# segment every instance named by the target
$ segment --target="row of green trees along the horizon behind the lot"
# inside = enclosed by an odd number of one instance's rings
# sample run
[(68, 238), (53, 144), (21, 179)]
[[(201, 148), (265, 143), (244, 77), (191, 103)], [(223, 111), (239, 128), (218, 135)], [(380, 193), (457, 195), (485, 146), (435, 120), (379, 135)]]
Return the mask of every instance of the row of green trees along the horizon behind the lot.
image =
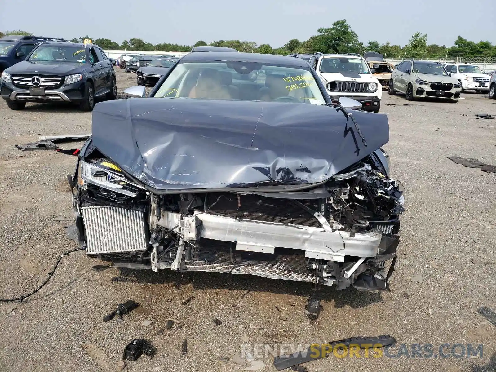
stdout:
[[(3, 35), (32, 35), (22, 30), (0, 32)], [(218, 40), (206, 43), (203, 40), (197, 41), (194, 45), (179, 45), (173, 43), (152, 44), (142, 39), (132, 38), (124, 40), (121, 44), (105, 38), (93, 39), (91, 36), (73, 38), (71, 42), (83, 42), (84, 39), (91, 39), (103, 49), (127, 50), (127, 51), (163, 51), (163, 52), (189, 52), (193, 46), (219, 46), (237, 49), (240, 52), (255, 52), (265, 54), (288, 55), (291, 53), (313, 54), (320, 53), (364, 53), (368, 51), (378, 52), (385, 58), (417, 58), (417, 59), (439, 59), (456, 57), (496, 57), (496, 45), (489, 41), (474, 42), (458, 36), (454, 45), (428, 44), (427, 34), (416, 32), (412, 35), (408, 44), (403, 47), (392, 45), (390, 42), (380, 44), (375, 40), (370, 40), (367, 44), (359, 41), (358, 35), (352, 30), (346, 19), (340, 19), (328, 28), (317, 29), (317, 34), (308, 40), (300, 41), (291, 39), (283, 46), (273, 48), (269, 44), (258, 45), (253, 41), (240, 40)]]

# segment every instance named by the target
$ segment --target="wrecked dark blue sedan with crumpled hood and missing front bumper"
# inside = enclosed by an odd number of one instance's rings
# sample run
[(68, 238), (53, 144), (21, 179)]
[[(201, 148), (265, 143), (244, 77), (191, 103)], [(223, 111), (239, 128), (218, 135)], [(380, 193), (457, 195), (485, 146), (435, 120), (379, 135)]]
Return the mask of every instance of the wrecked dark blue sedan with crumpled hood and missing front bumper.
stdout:
[(325, 92), (301, 59), (206, 52), (98, 103), (69, 176), (87, 254), (387, 290), (404, 210), (388, 120)]

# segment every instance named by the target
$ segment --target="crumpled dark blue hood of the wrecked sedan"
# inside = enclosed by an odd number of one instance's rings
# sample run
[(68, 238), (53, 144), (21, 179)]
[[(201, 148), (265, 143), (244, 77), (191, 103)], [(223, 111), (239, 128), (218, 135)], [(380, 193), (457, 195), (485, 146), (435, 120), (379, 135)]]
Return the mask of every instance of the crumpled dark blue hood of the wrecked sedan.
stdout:
[(385, 115), (254, 101), (130, 98), (98, 103), (94, 146), (154, 189), (315, 184), (389, 141)]

